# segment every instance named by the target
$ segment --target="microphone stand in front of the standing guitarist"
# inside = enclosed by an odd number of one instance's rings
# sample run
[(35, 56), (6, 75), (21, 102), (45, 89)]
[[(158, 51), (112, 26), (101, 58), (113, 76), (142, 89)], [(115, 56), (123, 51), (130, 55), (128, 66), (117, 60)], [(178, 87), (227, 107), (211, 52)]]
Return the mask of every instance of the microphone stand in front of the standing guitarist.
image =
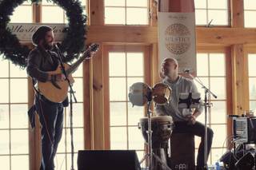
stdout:
[(71, 170), (74, 170), (74, 132), (73, 132), (73, 100), (72, 97), (74, 97), (74, 102), (77, 103), (77, 98), (74, 96), (74, 90), (72, 88), (72, 85), (70, 83), (70, 79), (68, 78), (68, 75), (66, 73), (66, 69), (64, 67), (64, 63), (62, 61), (62, 53), (60, 49), (58, 49), (58, 45), (54, 45), (55, 49), (57, 49), (58, 53), (58, 59), (60, 61), (60, 65), (62, 68), (62, 73), (64, 74), (66, 81), (68, 82), (70, 86), (70, 137), (71, 137)]

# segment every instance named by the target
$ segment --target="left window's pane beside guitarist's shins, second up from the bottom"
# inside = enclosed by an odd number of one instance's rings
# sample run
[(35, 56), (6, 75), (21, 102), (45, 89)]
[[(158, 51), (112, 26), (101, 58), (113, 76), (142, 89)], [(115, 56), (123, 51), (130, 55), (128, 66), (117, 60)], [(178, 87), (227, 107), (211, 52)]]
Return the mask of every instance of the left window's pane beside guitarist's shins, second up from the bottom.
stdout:
[(11, 154), (29, 152), (28, 130), (10, 130)]

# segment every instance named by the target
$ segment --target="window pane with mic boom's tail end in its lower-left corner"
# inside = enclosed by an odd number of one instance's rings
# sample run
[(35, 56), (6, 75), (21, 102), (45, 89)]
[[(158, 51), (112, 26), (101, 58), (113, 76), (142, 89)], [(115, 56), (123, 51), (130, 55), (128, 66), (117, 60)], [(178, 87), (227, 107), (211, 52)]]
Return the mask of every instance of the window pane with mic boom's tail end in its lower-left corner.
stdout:
[(210, 90), (218, 100), (226, 99), (226, 78), (210, 78)]

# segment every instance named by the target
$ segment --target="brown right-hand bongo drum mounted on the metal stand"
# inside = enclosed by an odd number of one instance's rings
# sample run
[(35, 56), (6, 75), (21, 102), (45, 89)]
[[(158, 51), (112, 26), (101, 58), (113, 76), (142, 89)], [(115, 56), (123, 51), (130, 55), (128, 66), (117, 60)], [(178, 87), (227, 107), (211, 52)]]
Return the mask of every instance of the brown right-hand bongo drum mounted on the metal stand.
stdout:
[(168, 85), (158, 83), (152, 89), (152, 99), (158, 105), (164, 105), (170, 100), (171, 89)]

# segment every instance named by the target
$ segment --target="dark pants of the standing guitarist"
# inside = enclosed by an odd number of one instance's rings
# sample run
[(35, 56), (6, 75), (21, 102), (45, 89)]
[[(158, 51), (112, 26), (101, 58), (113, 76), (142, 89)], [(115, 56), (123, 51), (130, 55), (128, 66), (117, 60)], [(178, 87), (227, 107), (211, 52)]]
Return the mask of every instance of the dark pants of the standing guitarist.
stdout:
[(40, 170), (54, 170), (54, 156), (62, 138), (63, 105), (36, 97), (36, 110), (42, 125), (42, 164)]

